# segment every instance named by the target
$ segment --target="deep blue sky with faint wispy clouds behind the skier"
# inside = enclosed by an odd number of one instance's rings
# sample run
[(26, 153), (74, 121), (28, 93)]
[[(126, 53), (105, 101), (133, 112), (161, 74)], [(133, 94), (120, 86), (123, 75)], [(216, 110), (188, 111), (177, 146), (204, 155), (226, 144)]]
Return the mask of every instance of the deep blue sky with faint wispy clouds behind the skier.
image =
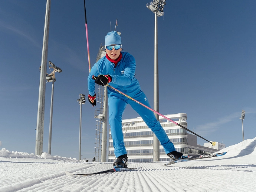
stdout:
[[(153, 106), (154, 14), (150, 1), (86, 1), (91, 65), (118, 18), (124, 51)], [(46, 0), (0, 1), (0, 148), (35, 153)], [(256, 1), (167, 1), (158, 17), (159, 112), (187, 113), (188, 128), (226, 146), (256, 137)], [(79, 93), (89, 74), (83, 0), (52, 1), (48, 59), (56, 74), (52, 155), (78, 158)], [(110, 22), (112, 28), (110, 27)], [(49, 69), (47, 72), (50, 73)], [(51, 83), (46, 83), (43, 151)], [(95, 107), (82, 106), (82, 158), (94, 157)], [(130, 106), (124, 119), (138, 117)], [(204, 140), (198, 138), (198, 144)]]

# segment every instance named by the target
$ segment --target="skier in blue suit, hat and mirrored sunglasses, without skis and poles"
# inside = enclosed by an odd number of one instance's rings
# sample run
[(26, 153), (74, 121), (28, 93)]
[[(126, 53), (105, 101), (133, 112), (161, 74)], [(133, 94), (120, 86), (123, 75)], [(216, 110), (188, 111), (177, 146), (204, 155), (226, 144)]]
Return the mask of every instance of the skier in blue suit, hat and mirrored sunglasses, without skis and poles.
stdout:
[[(122, 91), (138, 102), (150, 107), (146, 95), (142, 92), (135, 75), (135, 59), (128, 52), (122, 51), (121, 36), (116, 31), (108, 32), (105, 37), (106, 56), (96, 62), (88, 76), (88, 100), (92, 106), (96, 105), (95, 83), (101, 86), (107, 84)], [(122, 52), (121, 52), (122, 51)], [(173, 160), (179, 159), (183, 154), (175, 151), (160, 122), (154, 113), (140, 104), (128, 99), (124, 95), (108, 89), (109, 124), (114, 144), (114, 153), (117, 160), (114, 167), (127, 167), (128, 157), (124, 145), (122, 132), (122, 114), (127, 104), (142, 117), (147, 126), (154, 132), (164, 148), (165, 153)]]

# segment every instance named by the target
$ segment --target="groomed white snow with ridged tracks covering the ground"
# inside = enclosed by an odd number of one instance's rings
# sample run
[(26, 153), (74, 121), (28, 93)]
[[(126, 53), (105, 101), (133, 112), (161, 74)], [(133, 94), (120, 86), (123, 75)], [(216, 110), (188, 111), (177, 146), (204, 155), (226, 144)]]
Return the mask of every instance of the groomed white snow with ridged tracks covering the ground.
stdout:
[(0, 150), (1, 192), (241, 192), (256, 191), (256, 137), (224, 148), (222, 157), (180, 162), (129, 163), (127, 172), (86, 174), (112, 168), (112, 163), (41, 156)]

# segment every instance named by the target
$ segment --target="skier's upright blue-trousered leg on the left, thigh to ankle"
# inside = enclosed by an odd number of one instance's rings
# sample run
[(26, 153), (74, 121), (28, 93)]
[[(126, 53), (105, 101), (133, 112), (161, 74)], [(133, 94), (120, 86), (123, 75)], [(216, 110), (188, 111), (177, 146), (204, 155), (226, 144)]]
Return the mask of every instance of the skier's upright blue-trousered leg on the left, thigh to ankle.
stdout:
[(127, 103), (115, 96), (108, 97), (109, 124), (116, 157), (127, 154), (122, 131), (122, 114)]

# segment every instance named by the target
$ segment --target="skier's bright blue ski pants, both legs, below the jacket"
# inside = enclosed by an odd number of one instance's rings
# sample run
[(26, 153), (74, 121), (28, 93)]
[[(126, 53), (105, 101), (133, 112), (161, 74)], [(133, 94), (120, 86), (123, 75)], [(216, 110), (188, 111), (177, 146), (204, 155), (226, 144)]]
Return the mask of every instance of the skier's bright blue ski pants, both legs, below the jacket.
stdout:
[[(135, 95), (129, 96), (150, 107), (147, 97), (142, 90)], [(147, 126), (157, 136), (166, 154), (175, 151), (173, 143), (171, 143), (160, 122), (157, 121), (155, 114), (151, 110), (119, 93), (112, 92), (111, 95), (108, 95), (109, 124), (116, 157), (127, 154), (122, 132), (122, 114), (124, 113), (124, 109), (127, 104), (131, 105), (131, 107), (142, 117)]]

